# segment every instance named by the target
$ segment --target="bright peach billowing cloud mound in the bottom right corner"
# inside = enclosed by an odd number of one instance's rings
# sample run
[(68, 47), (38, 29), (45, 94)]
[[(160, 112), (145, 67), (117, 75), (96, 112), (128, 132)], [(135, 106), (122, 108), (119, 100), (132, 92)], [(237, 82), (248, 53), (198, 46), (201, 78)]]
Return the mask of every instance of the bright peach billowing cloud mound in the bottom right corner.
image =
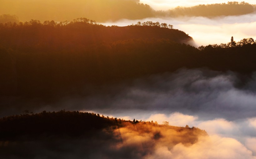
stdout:
[(168, 149), (159, 145), (152, 155), (145, 158), (255, 159), (256, 157), (237, 140), (213, 135), (201, 137), (197, 143), (191, 146), (179, 143), (173, 149)]

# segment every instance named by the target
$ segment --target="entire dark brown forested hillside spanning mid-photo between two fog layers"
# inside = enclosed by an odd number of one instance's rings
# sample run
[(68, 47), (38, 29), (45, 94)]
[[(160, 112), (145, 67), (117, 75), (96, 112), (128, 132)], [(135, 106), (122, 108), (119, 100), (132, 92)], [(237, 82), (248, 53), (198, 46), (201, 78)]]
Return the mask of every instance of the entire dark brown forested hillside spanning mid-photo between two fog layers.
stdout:
[(183, 43), (192, 40), (184, 32), (167, 24), (146, 23), (106, 27), (78, 18), (58, 24), (38, 20), (2, 24), (0, 93), (53, 96), (79, 92), (85, 84), (107, 84), (182, 67), (246, 74), (256, 70), (252, 38), (198, 49)]

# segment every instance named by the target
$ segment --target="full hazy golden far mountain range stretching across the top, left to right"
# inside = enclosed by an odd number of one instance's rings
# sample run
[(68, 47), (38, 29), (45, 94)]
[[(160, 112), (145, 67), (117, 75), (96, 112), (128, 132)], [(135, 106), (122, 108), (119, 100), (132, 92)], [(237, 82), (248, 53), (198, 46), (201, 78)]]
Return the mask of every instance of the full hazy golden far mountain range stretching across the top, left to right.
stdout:
[(246, 2), (176, 7), (169, 11), (155, 11), (149, 5), (139, 3), (137, 0), (76, 0), (72, 2), (70, 0), (61, 2), (58, 0), (1, 0), (0, 3), (0, 15), (17, 15), (23, 22), (30, 19), (63, 21), (81, 16), (99, 22), (161, 16), (216, 17), (243, 15), (255, 11), (255, 5)]

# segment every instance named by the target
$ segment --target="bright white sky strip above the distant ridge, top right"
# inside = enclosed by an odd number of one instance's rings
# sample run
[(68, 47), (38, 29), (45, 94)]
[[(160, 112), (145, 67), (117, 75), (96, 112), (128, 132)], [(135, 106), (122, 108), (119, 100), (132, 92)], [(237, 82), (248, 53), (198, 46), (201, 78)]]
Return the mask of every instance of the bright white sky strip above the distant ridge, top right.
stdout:
[[(191, 7), (199, 4), (213, 4), (213, 3), (227, 3), (226, 0), (140, 0), (140, 3), (148, 4), (155, 10), (168, 10), (175, 8), (177, 6), (180, 7)], [(230, 1), (233, 2), (233, 1)], [(236, 2), (243, 2), (240, 0), (236, 0)], [(250, 4), (255, 4), (255, 0), (247, 0), (244, 1)]]

